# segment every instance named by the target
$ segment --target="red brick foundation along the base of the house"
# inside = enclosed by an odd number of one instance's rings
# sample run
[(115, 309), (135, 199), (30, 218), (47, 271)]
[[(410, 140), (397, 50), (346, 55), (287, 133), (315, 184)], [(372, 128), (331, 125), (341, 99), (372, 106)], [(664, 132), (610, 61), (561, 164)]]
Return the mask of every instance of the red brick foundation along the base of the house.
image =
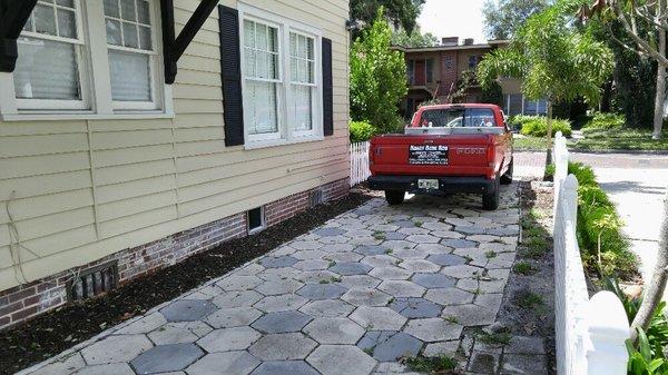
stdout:
[[(312, 191), (322, 191), (322, 201), (345, 196), (348, 179), (337, 180), (313, 190), (297, 193), (265, 206), (265, 223), (276, 225), (310, 207)], [(117, 261), (118, 282), (127, 283), (158, 269), (175, 265), (187, 257), (212, 249), (216, 245), (247, 235), (246, 213), (184, 230), (163, 239), (125, 249), (91, 264), (0, 292), (0, 329), (28, 320), (67, 304), (67, 283), (78, 270)]]

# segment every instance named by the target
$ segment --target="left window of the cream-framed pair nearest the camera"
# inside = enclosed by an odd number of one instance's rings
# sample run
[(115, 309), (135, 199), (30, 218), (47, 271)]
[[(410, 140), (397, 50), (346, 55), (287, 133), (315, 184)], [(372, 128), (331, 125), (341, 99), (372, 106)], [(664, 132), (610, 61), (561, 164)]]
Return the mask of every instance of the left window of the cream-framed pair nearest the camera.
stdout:
[(18, 40), (17, 105), (26, 109), (85, 109), (85, 42), (73, 0), (39, 1)]

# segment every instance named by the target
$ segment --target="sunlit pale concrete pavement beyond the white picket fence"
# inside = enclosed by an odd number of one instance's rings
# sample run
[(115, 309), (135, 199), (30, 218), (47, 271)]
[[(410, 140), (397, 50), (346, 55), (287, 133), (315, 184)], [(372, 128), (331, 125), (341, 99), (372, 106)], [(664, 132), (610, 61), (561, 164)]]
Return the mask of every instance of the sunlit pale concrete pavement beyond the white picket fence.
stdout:
[[(640, 272), (649, 279), (658, 249), (661, 203), (668, 188), (668, 156), (573, 152), (571, 160), (593, 167), (625, 221), (625, 234), (640, 257)], [(538, 177), (544, 168), (544, 154), (519, 152), (515, 162), (519, 176)]]

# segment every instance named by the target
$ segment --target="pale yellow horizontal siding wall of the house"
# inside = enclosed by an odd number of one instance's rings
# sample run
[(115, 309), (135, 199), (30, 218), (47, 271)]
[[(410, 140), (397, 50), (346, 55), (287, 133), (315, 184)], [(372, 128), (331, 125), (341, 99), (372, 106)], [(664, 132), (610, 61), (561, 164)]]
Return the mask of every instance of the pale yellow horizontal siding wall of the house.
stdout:
[[(177, 32), (198, 3), (175, 1)], [(178, 63), (175, 119), (0, 122), (0, 290), (347, 177), (347, 0), (247, 3), (332, 39), (334, 136), (225, 147), (216, 10)]]

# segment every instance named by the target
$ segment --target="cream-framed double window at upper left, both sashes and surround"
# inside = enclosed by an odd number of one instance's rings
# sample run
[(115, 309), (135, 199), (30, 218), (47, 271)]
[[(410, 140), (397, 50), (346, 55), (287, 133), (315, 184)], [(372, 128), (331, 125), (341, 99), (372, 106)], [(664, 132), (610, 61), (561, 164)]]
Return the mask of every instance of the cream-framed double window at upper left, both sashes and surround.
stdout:
[(19, 38), (14, 72), (0, 73), (2, 119), (170, 116), (157, 7), (157, 0), (39, 0)]

